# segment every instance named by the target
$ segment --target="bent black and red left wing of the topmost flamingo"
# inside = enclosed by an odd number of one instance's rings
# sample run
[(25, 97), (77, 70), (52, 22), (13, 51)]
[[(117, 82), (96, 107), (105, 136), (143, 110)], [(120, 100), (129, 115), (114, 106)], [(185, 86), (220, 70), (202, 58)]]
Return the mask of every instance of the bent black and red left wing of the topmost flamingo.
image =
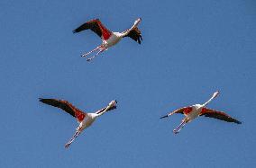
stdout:
[(99, 19), (94, 19), (80, 25), (77, 29), (73, 31), (73, 33), (85, 31), (88, 29), (94, 31), (100, 38), (108, 35), (110, 36), (111, 34), (111, 31), (107, 30), (105, 26), (99, 21)]

